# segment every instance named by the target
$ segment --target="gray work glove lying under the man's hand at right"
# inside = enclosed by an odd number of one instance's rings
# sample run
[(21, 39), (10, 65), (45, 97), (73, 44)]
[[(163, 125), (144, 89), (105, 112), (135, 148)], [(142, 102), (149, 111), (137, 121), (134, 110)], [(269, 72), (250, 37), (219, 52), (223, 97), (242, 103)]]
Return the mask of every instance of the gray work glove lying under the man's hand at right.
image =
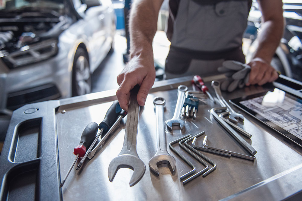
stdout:
[(226, 79), (221, 83), (222, 91), (232, 92), (237, 87), (242, 88), (249, 81), (249, 72), (251, 67), (239, 61), (224, 61), (221, 67), (218, 67), (220, 73), (224, 73)]

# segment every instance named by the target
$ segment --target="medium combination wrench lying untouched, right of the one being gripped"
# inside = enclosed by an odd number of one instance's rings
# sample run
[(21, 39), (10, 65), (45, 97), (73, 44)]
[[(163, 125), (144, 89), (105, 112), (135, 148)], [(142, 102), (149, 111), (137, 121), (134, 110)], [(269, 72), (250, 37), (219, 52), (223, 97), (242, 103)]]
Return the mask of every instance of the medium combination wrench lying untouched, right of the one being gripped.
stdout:
[(156, 112), (156, 137), (157, 149), (155, 155), (149, 160), (150, 170), (159, 175), (158, 165), (169, 165), (172, 174), (175, 172), (176, 160), (167, 151), (166, 133), (165, 133), (165, 118), (164, 118), (164, 105), (165, 99), (162, 97), (155, 97), (153, 99)]

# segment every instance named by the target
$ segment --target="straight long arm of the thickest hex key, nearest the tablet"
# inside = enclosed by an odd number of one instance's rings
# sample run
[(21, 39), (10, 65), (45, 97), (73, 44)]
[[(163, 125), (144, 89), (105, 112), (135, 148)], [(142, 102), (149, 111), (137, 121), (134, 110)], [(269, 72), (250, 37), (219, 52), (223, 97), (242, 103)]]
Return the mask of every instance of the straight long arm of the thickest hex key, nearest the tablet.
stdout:
[(223, 119), (221, 119), (215, 112), (215, 108), (212, 108), (210, 110), (210, 113), (213, 115), (213, 117), (218, 121), (218, 123), (223, 126), (250, 154), (255, 155), (257, 151), (249, 144), (247, 143), (236, 131)]

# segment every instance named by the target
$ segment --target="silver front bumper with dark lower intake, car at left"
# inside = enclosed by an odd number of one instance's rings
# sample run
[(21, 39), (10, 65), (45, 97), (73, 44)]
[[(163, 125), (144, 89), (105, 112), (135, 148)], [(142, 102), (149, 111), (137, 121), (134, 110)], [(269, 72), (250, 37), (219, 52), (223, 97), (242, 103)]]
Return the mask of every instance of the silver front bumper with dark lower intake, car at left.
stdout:
[(31, 102), (71, 96), (67, 52), (38, 63), (8, 69), (0, 63), (0, 111), (4, 114)]

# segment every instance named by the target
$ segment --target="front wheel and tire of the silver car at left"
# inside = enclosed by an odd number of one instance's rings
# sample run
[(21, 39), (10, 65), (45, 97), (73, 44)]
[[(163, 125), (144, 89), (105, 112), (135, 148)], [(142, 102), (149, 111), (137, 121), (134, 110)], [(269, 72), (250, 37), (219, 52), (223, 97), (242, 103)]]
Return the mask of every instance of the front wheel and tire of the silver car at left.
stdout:
[(91, 85), (88, 54), (83, 48), (78, 48), (72, 66), (72, 96), (91, 93)]

